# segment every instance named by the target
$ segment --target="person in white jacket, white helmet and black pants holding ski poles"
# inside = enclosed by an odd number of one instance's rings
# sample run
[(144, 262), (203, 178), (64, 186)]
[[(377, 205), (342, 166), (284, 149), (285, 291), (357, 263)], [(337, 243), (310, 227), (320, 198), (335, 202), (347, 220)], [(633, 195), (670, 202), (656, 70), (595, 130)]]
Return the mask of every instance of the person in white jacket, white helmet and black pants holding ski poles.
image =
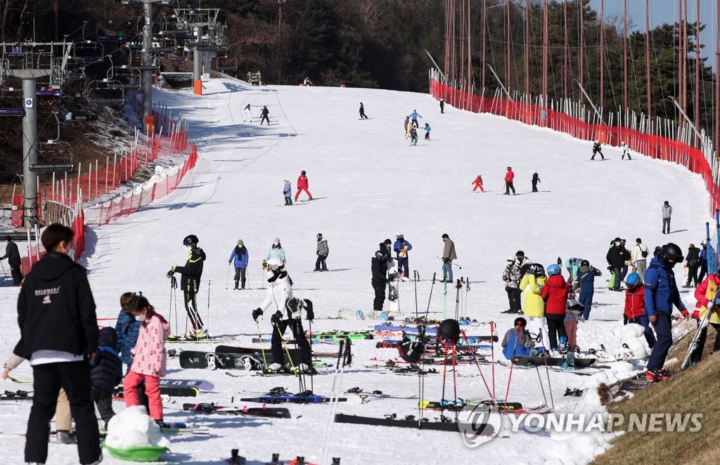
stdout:
[(284, 262), (279, 258), (270, 258), (267, 261), (268, 290), (260, 307), (253, 310), (253, 320), (263, 315), (265, 310), (274, 309), (270, 317), (272, 323), (271, 352), (272, 363), (267, 366), (270, 371), (279, 371), (284, 366), (282, 340), (285, 330), (290, 327), (292, 336), (300, 349), (300, 364), (297, 369), (309, 371), (312, 366), (310, 343), (307, 342), (305, 331), (302, 329), (300, 316), (305, 310), (307, 320), (312, 321), (312, 302), (292, 297), (292, 279), (284, 269)]

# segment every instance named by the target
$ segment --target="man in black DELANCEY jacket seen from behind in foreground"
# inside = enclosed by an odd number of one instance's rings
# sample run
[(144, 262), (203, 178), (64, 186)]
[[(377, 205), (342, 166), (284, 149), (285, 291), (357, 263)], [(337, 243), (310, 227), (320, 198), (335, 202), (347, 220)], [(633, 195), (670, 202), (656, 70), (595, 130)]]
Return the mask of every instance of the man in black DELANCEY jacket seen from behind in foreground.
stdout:
[(58, 223), (45, 228), (40, 239), (48, 253), (32, 266), (17, 299), (20, 340), (14, 353), (30, 360), (34, 379), (26, 462), (48, 459), (49, 425), (60, 387), (70, 399), (80, 463), (102, 460), (88, 363), (98, 346), (97, 315), (86, 270), (68, 256), (74, 236)]

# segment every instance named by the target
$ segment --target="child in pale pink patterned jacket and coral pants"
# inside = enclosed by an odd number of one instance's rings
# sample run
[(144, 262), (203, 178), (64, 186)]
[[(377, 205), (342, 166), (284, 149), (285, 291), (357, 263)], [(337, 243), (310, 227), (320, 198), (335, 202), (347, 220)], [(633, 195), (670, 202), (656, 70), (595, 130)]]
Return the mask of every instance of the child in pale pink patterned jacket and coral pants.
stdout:
[(150, 405), (150, 417), (159, 425), (163, 424), (163, 402), (160, 398), (160, 379), (165, 376), (165, 340), (170, 334), (170, 325), (148, 299), (135, 295), (130, 302), (130, 314), (140, 321), (138, 343), (130, 351), (132, 366), (122, 382), (125, 405), (140, 405), (138, 384), (145, 382), (145, 394)]

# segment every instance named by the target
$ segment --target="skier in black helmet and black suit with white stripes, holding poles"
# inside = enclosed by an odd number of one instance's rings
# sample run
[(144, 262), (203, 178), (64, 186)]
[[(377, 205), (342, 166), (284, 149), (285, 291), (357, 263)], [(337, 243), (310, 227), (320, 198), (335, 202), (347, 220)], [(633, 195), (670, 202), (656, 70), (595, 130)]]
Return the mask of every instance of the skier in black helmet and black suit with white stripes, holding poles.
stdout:
[(182, 243), (188, 253), (185, 266), (173, 266), (168, 272), (168, 278), (174, 273), (181, 274), (180, 286), (185, 299), (185, 311), (190, 318), (193, 333), (189, 333), (189, 338), (207, 337), (207, 331), (202, 329), (202, 318), (200, 310), (197, 307), (197, 292), (200, 290), (200, 277), (202, 276), (202, 262), (205, 261), (205, 253), (202, 248), (197, 246), (199, 239), (197, 235), (191, 234), (183, 239)]

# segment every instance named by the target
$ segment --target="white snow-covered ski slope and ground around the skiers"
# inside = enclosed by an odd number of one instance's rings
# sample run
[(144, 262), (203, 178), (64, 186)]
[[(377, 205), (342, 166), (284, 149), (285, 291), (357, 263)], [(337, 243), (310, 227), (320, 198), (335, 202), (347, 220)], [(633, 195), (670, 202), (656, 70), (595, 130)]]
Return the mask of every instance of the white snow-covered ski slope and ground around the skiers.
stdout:
[[(589, 161), (591, 144), (557, 132), (526, 127), (500, 117), (472, 114), (438, 104), (425, 94), (367, 89), (322, 87), (253, 87), (239, 81), (215, 79), (204, 83), (205, 95), (189, 91), (156, 91), (168, 107), (189, 119), (191, 140), (197, 143), (199, 163), (179, 188), (166, 199), (110, 225), (88, 229), (83, 258), (89, 268), (99, 317), (116, 317), (122, 292), (143, 291), (166, 317), (170, 316), (170, 288), (166, 272), (184, 263), (181, 240), (196, 234), (207, 253), (199, 302), (210, 332), (236, 338), (235, 345), (251, 346), (256, 326), (251, 310), (264, 297), (260, 288), (261, 260), (278, 237), (287, 253), (287, 269), (297, 297), (312, 299), (318, 318), (312, 326), (323, 329), (367, 329), (372, 321), (330, 320), (341, 308), (372, 309), (370, 259), (378, 243), (404, 233), (413, 244), (410, 268), (417, 270), (418, 307), (428, 306), (433, 273), (441, 276), (441, 235), (454, 240), (458, 259), (456, 276), (467, 276), (468, 315), (479, 322), (494, 321), (502, 338), (514, 315), (508, 308), (500, 275), (505, 259), (522, 249), (532, 261), (545, 266), (565, 258), (588, 258), (605, 270), (608, 243), (616, 236), (629, 245), (641, 237), (650, 250), (666, 240), (686, 249), (698, 245), (704, 235), (707, 194), (699, 176), (683, 168), (635, 155), (621, 161), (619, 150), (606, 148), (606, 161)], [(357, 109), (365, 105), (370, 119), (360, 121)], [(257, 115), (267, 105), (273, 125), (243, 123), (242, 109), (253, 106)], [(410, 147), (403, 137), (405, 115), (417, 109), (420, 124), (432, 127), (430, 142)], [(516, 173), (518, 195), (504, 196), (506, 167)], [(301, 170), (307, 171), (313, 202), (284, 207), (283, 179), (295, 187)], [(538, 171), (540, 192), (531, 194), (530, 180)], [(472, 192), (477, 174), (485, 181), (485, 193)], [(301, 198), (305, 194), (302, 194)], [(661, 233), (660, 207), (672, 204), (673, 233)], [(330, 245), (331, 272), (312, 273), (315, 235), (323, 233)], [(228, 284), (228, 258), (238, 239), (247, 246), (251, 266), (248, 287), (239, 292)], [(678, 270), (676, 270), (678, 271)], [(607, 272), (604, 273), (605, 275)], [(678, 271), (680, 275), (680, 271)], [(567, 274), (566, 274), (567, 276)], [(617, 348), (622, 326), (624, 294), (604, 290), (606, 276), (598, 279), (591, 320), (580, 325), (581, 348)], [(210, 296), (208, 295), (210, 294)], [(414, 283), (400, 288), (402, 310), (415, 312)], [(178, 294), (181, 306), (181, 294)], [(208, 300), (208, 297), (210, 299)], [(690, 294), (683, 294), (690, 304)], [(4, 356), (18, 337), (14, 324), (17, 291), (0, 289), (7, 324), (0, 330)], [(208, 305), (209, 302), (209, 305)], [(449, 291), (449, 315), (454, 313), (455, 293)], [(387, 305), (387, 302), (386, 302)], [(209, 307), (209, 309), (208, 309)], [(184, 311), (180, 311), (184, 327)], [(444, 293), (435, 286), (430, 316), (443, 317)], [(175, 312), (171, 322), (175, 326)], [(107, 323), (107, 322), (106, 322)], [(113, 324), (112, 320), (109, 320)], [(269, 334), (269, 315), (260, 322)], [(307, 328), (307, 325), (306, 325)], [(467, 328), (468, 335), (489, 333), (487, 324)], [(408, 395), (418, 390), (416, 376), (398, 376), (364, 368), (370, 358), (397, 356), (391, 349), (374, 348), (375, 341), (354, 343), (354, 365), (343, 377), (343, 392), (351, 387), (386, 394)], [(174, 345), (168, 348), (212, 350), (212, 344)], [(267, 346), (266, 346), (267, 347)], [(333, 350), (335, 346), (319, 346)], [(499, 347), (499, 346), (496, 346)], [(318, 348), (318, 346), (315, 346)], [(496, 358), (500, 356), (499, 348)], [(565, 389), (593, 387), (606, 379), (624, 376), (633, 365), (620, 362), (595, 376), (562, 372), (549, 374), (554, 405), (558, 411), (595, 410), (598, 399), (588, 393), (580, 399), (563, 397)], [(488, 383), (490, 366), (482, 366)], [(29, 366), (17, 376), (30, 376)], [(283, 386), (297, 389), (292, 377), (261, 377), (246, 371), (182, 370), (177, 358), (168, 361), (168, 377), (207, 379), (213, 392), (202, 393), (199, 402), (230, 405), (238, 392), (264, 391)], [(485, 398), (487, 390), (474, 366), (458, 369), (457, 393), (463, 398)], [(505, 397), (509, 369), (495, 369), (495, 391)], [(544, 378), (544, 375), (543, 375)], [(546, 382), (546, 379), (545, 379)], [(332, 374), (315, 376), (315, 392), (328, 394)], [(29, 385), (0, 382), (0, 390)], [(439, 399), (442, 375), (426, 376), (426, 399)], [(448, 382), (448, 393), (452, 382)], [(492, 387), (491, 387), (492, 389)], [(545, 387), (547, 392), (547, 386)], [(446, 394), (449, 397), (451, 394)], [(510, 401), (534, 406), (544, 403), (534, 370), (513, 371)], [(189, 401), (189, 400), (188, 400)], [(207, 426), (210, 435), (172, 438), (173, 462), (218, 464), (239, 448), (248, 463), (269, 461), (273, 452), (282, 458), (305, 456), (320, 459), (328, 417), (327, 405), (289, 405), (290, 420), (186, 415), (184, 399), (166, 405), (166, 420)], [(382, 417), (417, 415), (416, 400), (376, 399), (365, 405), (340, 405), (338, 411)], [(122, 410), (122, 402), (115, 402)], [(22, 461), (29, 402), (0, 403), (0, 463)], [(436, 416), (429, 412), (428, 416)], [(343, 464), (447, 464), (472, 463), (585, 463), (607, 447), (606, 436), (510, 433), (480, 448), (467, 448), (453, 433), (400, 430), (363, 425), (336, 424), (330, 456)], [(106, 454), (107, 455), (107, 454)], [(107, 457), (106, 457), (107, 459)], [(76, 448), (50, 446), (49, 463), (73, 464)], [(109, 463), (114, 463), (107, 459)], [(471, 462), (472, 461), (472, 462)]]

